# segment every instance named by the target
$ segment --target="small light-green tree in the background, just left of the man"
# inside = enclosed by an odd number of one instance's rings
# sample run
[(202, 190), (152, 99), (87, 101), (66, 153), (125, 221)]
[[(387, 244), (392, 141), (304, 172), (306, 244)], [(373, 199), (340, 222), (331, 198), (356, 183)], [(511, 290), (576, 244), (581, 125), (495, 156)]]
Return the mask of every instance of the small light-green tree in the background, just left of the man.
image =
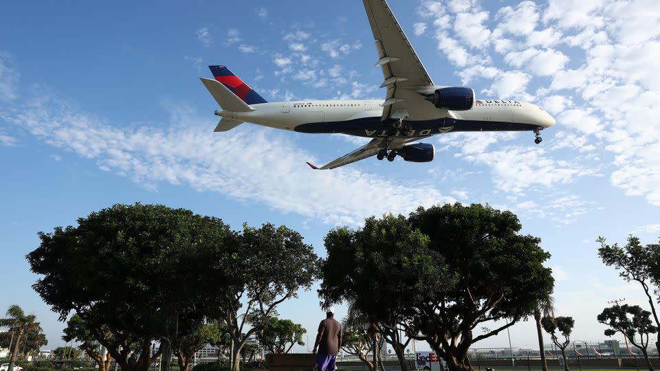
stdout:
[(257, 333), (259, 342), (271, 353), (288, 353), (294, 345), (304, 346), (303, 334), (307, 330), (303, 325), (294, 323), (291, 319), (270, 317), (265, 321), (263, 329)]

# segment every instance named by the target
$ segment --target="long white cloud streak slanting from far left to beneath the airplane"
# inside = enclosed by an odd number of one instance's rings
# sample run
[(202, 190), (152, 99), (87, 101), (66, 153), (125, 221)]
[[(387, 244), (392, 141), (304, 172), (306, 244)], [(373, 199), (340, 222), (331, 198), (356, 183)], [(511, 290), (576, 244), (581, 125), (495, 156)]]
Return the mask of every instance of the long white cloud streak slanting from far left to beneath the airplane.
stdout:
[(315, 156), (272, 129), (245, 126), (215, 135), (209, 129), (212, 122), (196, 126), (207, 119), (189, 109), (173, 112), (175, 122), (166, 129), (109, 126), (68, 111), (55, 100), (8, 115), (10, 122), (39, 140), (148, 189), (160, 183), (188, 186), (325, 223), (351, 225), (372, 214), (406, 213), (418, 205), (455, 201), (428, 184), (396, 183), (355, 166), (310, 170), (304, 161), (316, 162)]

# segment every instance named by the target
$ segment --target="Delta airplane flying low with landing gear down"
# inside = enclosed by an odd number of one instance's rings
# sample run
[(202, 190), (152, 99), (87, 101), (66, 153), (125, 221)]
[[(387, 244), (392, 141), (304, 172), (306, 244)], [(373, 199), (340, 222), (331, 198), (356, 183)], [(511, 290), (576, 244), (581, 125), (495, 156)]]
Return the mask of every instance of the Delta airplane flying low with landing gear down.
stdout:
[(353, 152), (314, 170), (328, 170), (368, 157), (428, 162), (432, 135), (461, 131), (540, 131), (555, 119), (535, 104), (476, 99), (474, 89), (435, 85), (386, 0), (363, 0), (383, 72), (384, 100), (300, 100), (267, 102), (225, 66), (209, 66), (214, 79), (200, 78), (221, 107), (214, 131), (250, 122), (298, 133), (341, 133), (372, 138)]

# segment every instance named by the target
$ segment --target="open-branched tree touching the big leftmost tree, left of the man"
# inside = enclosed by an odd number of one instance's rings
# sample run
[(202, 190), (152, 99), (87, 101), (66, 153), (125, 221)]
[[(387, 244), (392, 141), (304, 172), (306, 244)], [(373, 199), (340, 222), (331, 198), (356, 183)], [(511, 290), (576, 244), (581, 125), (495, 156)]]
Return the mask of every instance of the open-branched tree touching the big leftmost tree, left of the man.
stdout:
[[(318, 256), (298, 232), (269, 223), (260, 228), (243, 225), (240, 243), (228, 250), (227, 260), (225, 267), (230, 269), (226, 274), (234, 283), (217, 290), (223, 303), (219, 317), (232, 341), (232, 371), (240, 371), (239, 355), (245, 342), (263, 329), (279, 304), (297, 297), (300, 289), (309, 290), (318, 276)], [(245, 330), (246, 324), (251, 325), (249, 330)]]

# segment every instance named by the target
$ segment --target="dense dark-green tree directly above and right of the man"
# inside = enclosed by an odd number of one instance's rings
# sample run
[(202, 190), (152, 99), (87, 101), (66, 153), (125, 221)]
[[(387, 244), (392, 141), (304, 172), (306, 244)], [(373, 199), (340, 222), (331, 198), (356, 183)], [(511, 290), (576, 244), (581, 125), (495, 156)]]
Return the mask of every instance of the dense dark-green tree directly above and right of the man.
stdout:
[(428, 242), (404, 216), (391, 214), (367, 218), (357, 230), (333, 229), (325, 237), (320, 296), (325, 304), (349, 301), (359, 308), (393, 347), (404, 371), (411, 338), (404, 339), (399, 328), (414, 333), (414, 307), (453, 284), (443, 258), (428, 249)]

